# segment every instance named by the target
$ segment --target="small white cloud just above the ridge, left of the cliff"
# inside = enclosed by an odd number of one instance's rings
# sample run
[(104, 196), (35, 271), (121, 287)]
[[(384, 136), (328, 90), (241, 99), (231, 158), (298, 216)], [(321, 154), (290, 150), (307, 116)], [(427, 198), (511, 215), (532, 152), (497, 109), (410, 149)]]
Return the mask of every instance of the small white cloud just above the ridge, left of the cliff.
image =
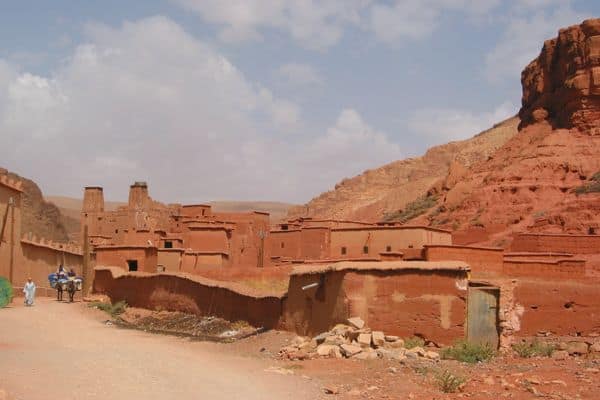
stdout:
[(467, 110), (430, 108), (417, 110), (409, 127), (433, 144), (470, 138), (494, 124), (515, 115), (518, 107), (504, 102), (491, 112), (475, 114)]

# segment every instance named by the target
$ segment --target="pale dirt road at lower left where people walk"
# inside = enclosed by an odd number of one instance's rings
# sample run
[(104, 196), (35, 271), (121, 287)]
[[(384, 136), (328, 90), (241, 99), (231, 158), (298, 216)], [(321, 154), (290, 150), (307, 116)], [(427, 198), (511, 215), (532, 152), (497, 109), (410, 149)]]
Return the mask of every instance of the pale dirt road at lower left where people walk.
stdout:
[[(266, 360), (106, 326), (82, 303), (15, 299), (0, 310), (0, 389), (9, 399), (316, 399), (319, 385)], [(0, 397), (2, 396), (0, 392)]]

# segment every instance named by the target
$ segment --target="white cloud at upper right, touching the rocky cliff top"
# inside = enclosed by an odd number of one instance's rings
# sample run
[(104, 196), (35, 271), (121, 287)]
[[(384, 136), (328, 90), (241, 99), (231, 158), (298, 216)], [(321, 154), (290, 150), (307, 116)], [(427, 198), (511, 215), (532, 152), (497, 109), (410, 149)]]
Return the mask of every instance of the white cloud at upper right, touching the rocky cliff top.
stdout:
[(519, 0), (515, 7), (520, 12), (535, 11), (511, 18), (500, 41), (485, 56), (484, 73), (490, 82), (518, 82), (521, 71), (538, 56), (546, 39), (556, 37), (560, 28), (587, 18), (574, 11), (568, 1)]

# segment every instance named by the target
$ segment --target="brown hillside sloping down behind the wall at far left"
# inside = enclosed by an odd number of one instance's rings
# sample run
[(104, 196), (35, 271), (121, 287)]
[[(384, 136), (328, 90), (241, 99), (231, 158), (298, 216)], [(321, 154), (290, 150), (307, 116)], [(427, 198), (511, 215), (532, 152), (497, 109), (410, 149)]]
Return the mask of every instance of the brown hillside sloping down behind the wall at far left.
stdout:
[(68, 229), (58, 207), (44, 200), (38, 185), (30, 179), (0, 168), (0, 175), (23, 182), (23, 204), (21, 206), (21, 232), (31, 232), (37, 237), (56, 242), (68, 242)]

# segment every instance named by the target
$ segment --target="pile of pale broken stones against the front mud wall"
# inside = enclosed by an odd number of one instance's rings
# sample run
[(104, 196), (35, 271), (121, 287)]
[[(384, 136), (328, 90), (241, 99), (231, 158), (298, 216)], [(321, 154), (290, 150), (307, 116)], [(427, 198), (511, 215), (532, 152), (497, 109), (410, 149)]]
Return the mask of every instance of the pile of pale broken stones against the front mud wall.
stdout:
[(317, 357), (352, 358), (374, 360), (385, 358), (404, 361), (406, 359), (439, 360), (439, 353), (420, 346), (407, 349), (404, 340), (382, 331), (372, 331), (365, 322), (353, 317), (347, 324), (338, 324), (328, 332), (314, 338), (296, 337), (292, 344), (283, 347), (279, 356), (290, 360), (307, 360)]

